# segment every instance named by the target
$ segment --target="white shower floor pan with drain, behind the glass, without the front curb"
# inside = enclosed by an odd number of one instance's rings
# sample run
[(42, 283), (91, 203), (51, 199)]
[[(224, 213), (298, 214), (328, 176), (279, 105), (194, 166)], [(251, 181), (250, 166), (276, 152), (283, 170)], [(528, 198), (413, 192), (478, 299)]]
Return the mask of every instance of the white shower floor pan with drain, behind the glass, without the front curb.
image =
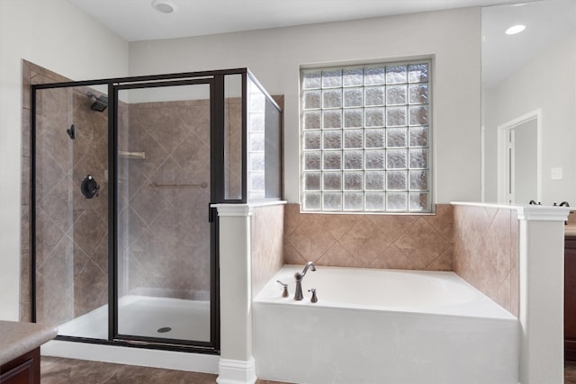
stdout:
[[(129, 295), (118, 307), (120, 335), (210, 341), (210, 301)], [(58, 335), (108, 339), (108, 305), (58, 326)]]

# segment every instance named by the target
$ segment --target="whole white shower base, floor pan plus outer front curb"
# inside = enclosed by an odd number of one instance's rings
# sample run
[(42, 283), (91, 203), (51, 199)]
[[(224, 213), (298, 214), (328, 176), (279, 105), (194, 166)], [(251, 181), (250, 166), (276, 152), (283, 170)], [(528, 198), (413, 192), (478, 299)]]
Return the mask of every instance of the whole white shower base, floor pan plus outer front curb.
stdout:
[[(210, 337), (210, 302), (200, 300), (126, 296), (119, 302), (120, 331), (124, 335), (149, 335), (203, 341)], [(172, 330), (157, 333), (170, 326)], [(58, 326), (58, 335), (108, 339), (108, 306), (94, 309)], [(40, 348), (45, 356), (115, 362), (170, 370), (218, 373), (219, 355), (183, 353), (118, 345), (52, 340)]]

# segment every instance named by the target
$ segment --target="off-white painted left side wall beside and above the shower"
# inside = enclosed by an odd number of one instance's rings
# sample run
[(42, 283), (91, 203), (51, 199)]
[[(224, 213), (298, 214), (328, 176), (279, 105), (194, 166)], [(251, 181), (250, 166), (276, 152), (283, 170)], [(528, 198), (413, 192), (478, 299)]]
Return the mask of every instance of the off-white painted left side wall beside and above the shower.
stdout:
[(22, 59), (73, 80), (128, 75), (128, 43), (66, 0), (0, 0), (0, 319), (20, 286)]

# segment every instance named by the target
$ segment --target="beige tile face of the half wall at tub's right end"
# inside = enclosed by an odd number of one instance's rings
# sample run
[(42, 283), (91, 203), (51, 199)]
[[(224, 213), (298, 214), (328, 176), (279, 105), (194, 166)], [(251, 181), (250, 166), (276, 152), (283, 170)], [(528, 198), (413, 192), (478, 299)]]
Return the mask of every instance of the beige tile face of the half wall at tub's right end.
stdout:
[(455, 205), (454, 241), (454, 271), (518, 316), (516, 210)]

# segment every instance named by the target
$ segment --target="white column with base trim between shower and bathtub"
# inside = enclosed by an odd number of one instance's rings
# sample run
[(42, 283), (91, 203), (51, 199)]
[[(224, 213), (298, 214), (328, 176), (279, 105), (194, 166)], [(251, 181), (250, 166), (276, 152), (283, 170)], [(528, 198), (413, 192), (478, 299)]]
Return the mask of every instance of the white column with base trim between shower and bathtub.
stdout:
[(253, 384), (250, 216), (246, 204), (216, 204), (220, 217), (220, 384)]

